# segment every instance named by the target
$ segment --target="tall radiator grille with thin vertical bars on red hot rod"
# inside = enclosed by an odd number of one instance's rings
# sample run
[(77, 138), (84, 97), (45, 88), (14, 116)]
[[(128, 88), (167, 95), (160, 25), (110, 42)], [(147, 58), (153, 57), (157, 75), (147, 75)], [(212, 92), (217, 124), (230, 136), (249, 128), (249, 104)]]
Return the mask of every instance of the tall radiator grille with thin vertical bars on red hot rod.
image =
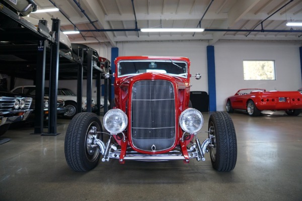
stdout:
[(134, 83), (131, 94), (131, 140), (143, 151), (163, 151), (175, 143), (174, 87), (166, 80)]

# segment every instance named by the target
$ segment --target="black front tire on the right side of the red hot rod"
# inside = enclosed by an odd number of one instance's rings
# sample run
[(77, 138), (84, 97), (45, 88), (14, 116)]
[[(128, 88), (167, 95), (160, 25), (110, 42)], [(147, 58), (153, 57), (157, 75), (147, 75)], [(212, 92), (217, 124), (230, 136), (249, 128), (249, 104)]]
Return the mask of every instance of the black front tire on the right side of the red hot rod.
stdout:
[(237, 161), (237, 138), (230, 115), (214, 112), (208, 126), (212, 135), (210, 157), (213, 168), (219, 172), (233, 170)]

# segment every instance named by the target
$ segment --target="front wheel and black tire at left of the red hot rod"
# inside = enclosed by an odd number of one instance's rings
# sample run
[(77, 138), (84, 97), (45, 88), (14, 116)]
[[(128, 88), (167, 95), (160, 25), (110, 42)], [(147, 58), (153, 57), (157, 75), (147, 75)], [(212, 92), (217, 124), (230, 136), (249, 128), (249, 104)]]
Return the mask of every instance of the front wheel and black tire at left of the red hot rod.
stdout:
[(101, 121), (94, 113), (79, 113), (70, 121), (65, 136), (65, 158), (74, 171), (86, 172), (99, 162), (101, 152), (93, 144), (103, 132)]

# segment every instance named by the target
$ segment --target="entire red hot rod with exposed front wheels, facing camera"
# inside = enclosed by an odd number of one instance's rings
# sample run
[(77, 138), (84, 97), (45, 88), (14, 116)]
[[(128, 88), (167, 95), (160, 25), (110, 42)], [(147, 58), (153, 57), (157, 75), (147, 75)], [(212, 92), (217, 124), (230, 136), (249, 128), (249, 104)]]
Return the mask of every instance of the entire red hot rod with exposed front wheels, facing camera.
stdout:
[[(115, 108), (103, 119), (79, 113), (70, 121), (65, 136), (65, 158), (74, 171), (93, 169), (112, 159), (204, 161), (210, 152), (218, 171), (231, 171), (237, 161), (233, 121), (226, 112), (210, 115), (205, 140), (197, 133), (202, 114), (189, 108), (190, 60), (185, 57), (127, 56), (115, 59)], [(195, 78), (200, 78), (196, 74)], [(108, 140), (102, 134), (108, 134)]]

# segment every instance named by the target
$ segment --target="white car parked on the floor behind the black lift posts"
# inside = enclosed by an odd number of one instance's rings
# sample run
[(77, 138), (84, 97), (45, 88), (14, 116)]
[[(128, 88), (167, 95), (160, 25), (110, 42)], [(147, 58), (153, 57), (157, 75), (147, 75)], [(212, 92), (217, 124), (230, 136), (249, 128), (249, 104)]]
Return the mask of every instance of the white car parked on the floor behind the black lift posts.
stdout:
[[(17, 86), (12, 91), (20, 91), (20, 88), (36, 88), (35, 85), (25, 85), (25, 86)], [(44, 95), (46, 97), (49, 96), (49, 87), (44, 87)], [(68, 88), (58, 88), (57, 98), (64, 100), (64, 107), (66, 112), (64, 113), (64, 117), (67, 119), (72, 119), (74, 115), (77, 114), (77, 95), (75, 95), (72, 90)], [(94, 100), (92, 99), (91, 103), (92, 112), (97, 110)], [(87, 111), (87, 97), (82, 96), (82, 111)], [(81, 112), (82, 112), (81, 111)]]

